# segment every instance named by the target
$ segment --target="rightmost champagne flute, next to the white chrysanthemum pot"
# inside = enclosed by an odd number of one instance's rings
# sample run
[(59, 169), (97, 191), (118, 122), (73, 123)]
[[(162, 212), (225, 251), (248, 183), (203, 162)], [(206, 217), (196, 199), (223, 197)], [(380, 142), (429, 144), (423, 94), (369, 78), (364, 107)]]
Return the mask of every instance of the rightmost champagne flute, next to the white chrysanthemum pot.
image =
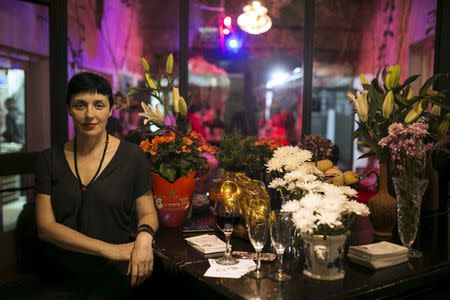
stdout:
[(269, 277), (275, 281), (287, 281), (291, 276), (283, 272), (283, 254), (292, 241), (292, 222), (290, 213), (272, 211), (270, 216), (270, 240), (278, 256), (278, 270)]

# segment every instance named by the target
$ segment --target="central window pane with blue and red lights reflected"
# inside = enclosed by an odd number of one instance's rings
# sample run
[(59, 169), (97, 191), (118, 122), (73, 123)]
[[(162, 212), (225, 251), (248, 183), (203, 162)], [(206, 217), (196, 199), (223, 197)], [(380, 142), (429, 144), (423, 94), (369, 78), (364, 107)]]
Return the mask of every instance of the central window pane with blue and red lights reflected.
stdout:
[(216, 144), (224, 130), (235, 129), (295, 144), (301, 134), (304, 5), (264, 2), (272, 28), (254, 35), (237, 24), (245, 4), (191, 1), (194, 129)]

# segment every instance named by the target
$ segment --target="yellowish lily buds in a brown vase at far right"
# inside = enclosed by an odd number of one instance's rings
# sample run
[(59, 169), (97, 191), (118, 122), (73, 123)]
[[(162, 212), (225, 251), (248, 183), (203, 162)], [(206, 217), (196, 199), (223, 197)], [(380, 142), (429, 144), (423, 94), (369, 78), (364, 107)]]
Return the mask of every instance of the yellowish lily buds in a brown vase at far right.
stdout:
[(358, 129), (353, 137), (358, 138), (358, 145), (370, 149), (361, 157), (375, 155), (380, 161), (378, 192), (368, 202), (375, 235), (380, 239), (392, 236), (392, 229), (397, 221), (397, 201), (388, 191), (390, 152), (388, 147), (383, 147), (379, 142), (389, 134), (391, 124), (411, 124), (416, 120), (429, 124), (430, 139), (437, 141), (446, 134), (450, 122), (448, 91), (430, 90), (433, 82), (441, 76), (443, 75), (437, 74), (427, 79), (418, 93), (415, 93), (411, 83), (419, 75), (401, 82), (400, 67), (389, 66), (379, 71), (371, 82), (361, 74), (363, 91), (357, 91), (356, 95), (347, 94), (359, 117)]

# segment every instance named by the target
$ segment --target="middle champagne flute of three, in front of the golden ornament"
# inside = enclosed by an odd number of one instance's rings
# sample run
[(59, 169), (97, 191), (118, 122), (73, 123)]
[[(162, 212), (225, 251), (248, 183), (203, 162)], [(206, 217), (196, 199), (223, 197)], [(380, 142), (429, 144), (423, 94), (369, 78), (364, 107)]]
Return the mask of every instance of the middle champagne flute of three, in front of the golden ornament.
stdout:
[(253, 278), (263, 278), (265, 274), (261, 272), (261, 251), (267, 241), (269, 227), (269, 209), (267, 203), (262, 199), (250, 201), (249, 214), (247, 219), (247, 231), (250, 242), (256, 251), (256, 270), (248, 275)]

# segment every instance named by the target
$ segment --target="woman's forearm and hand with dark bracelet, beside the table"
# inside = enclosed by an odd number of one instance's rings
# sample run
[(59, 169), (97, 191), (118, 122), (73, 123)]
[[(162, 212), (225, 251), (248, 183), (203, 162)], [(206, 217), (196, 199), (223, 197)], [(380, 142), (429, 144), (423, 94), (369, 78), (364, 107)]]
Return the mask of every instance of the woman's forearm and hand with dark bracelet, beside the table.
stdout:
[[(136, 200), (136, 213), (139, 225), (148, 224), (156, 232), (158, 229), (158, 216), (155, 210), (151, 191)], [(140, 232), (134, 243), (128, 265), (128, 274), (131, 275), (131, 286), (144, 282), (153, 271), (153, 237), (147, 232)]]

